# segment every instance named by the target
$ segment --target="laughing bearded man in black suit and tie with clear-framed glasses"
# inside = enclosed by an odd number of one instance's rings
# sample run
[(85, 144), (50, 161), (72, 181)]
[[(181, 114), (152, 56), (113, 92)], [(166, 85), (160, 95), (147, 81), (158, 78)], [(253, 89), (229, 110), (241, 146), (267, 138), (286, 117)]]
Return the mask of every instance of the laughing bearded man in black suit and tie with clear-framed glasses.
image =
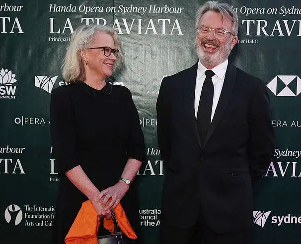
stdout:
[(226, 3), (197, 12), (199, 61), (162, 80), (157, 133), (166, 165), (161, 244), (247, 244), (251, 179), (274, 149), (264, 83), (228, 63), (238, 17)]

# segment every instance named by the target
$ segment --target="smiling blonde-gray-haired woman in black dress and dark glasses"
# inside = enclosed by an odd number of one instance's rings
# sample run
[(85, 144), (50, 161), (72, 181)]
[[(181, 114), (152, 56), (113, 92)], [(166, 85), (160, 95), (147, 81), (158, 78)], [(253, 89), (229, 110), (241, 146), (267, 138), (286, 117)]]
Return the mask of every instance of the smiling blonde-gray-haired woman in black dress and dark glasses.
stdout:
[(87, 199), (100, 218), (110, 218), (120, 201), (138, 232), (138, 199), (131, 183), (145, 160), (143, 133), (129, 89), (106, 81), (121, 65), (119, 49), (115, 31), (78, 27), (62, 65), (70, 84), (52, 92), (51, 138), (61, 176), (54, 244), (65, 243)]

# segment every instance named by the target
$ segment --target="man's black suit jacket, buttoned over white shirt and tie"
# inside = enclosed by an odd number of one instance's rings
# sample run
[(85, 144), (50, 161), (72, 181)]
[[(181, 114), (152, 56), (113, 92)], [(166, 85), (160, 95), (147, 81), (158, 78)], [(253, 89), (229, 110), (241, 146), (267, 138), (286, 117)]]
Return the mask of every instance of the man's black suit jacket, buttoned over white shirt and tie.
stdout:
[(162, 224), (192, 227), (202, 209), (217, 233), (252, 225), (252, 177), (266, 171), (274, 150), (264, 83), (228, 64), (207, 137), (201, 145), (194, 113), (197, 63), (162, 80), (157, 135), (166, 167)]

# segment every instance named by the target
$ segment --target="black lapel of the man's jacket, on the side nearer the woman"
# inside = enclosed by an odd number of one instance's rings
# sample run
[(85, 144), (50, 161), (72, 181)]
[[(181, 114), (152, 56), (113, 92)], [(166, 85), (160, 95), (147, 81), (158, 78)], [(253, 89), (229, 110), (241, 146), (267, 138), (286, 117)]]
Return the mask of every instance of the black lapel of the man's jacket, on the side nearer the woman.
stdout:
[(199, 136), (199, 130), (197, 127), (197, 122), (195, 119), (195, 112), (194, 112), (194, 96), (195, 96), (195, 83), (197, 78), (197, 69), (198, 69), (198, 62), (194, 64), (189, 70), (185, 79), (185, 91), (184, 91), (184, 104), (185, 110), (187, 112), (187, 120), (189, 124), (192, 126), (193, 133), (195, 135), (195, 139), (197, 143), (201, 147), (201, 140)]

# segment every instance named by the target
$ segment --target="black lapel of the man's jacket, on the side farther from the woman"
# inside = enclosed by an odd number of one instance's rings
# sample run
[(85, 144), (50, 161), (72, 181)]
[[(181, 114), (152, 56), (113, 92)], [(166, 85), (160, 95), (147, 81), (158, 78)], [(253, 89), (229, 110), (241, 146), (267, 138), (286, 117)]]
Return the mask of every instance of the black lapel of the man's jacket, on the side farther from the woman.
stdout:
[(204, 148), (204, 146), (206, 145), (206, 143), (208, 142), (208, 140), (210, 139), (214, 129), (216, 128), (217, 124), (220, 122), (222, 115), (226, 109), (228, 100), (230, 98), (232, 89), (233, 89), (233, 85), (235, 83), (235, 79), (236, 79), (236, 67), (232, 64), (228, 64), (227, 70), (226, 70), (226, 76), (225, 76), (225, 80), (224, 80), (224, 84), (223, 84), (223, 88), (222, 88), (222, 92), (220, 95), (220, 99), (218, 102), (218, 106), (217, 109), (215, 111), (211, 126), (208, 130), (207, 136), (205, 138), (205, 141), (202, 145), (202, 148)]

